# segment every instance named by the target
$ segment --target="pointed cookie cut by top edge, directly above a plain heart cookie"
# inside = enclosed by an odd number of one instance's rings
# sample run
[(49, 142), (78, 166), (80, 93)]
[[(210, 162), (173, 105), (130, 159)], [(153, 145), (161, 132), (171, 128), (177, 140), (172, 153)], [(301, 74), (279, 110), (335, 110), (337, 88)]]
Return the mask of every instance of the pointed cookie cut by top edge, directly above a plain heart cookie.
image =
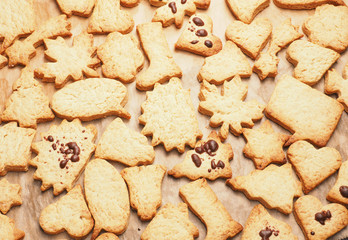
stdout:
[(226, 0), (233, 15), (244, 23), (251, 23), (253, 19), (269, 6), (270, 0)]

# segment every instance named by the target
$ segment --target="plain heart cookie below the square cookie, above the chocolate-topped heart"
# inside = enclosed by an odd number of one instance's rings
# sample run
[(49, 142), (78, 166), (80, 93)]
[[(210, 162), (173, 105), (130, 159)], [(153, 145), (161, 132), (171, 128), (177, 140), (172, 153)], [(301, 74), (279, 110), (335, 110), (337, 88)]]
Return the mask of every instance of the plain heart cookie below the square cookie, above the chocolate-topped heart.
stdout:
[(315, 149), (306, 141), (293, 143), (287, 154), (302, 182), (305, 194), (334, 174), (342, 163), (342, 157), (336, 149), (329, 147)]

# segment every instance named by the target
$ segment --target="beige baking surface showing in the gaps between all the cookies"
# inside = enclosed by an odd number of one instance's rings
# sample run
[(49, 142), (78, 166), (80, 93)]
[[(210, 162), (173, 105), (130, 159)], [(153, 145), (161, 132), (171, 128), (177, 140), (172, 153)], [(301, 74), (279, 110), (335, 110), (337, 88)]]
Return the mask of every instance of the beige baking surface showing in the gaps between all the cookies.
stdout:
[[(56, 5), (55, 0), (36, 0), (36, 8), (37, 8), (37, 21), (43, 22), (44, 20), (48, 19), (49, 17), (57, 16), (60, 14), (60, 11)], [(346, 4), (348, 4), (348, 0), (346, 0)], [(152, 19), (152, 16), (155, 11), (155, 7), (151, 7), (147, 0), (141, 0), (141, 3), (139, 6), (127, 9), (131, 12), (131, 14), (134, 17), (135, 24), (143, 23), (143, 22), (149, 22)], [(223, 0), (212, 0), (211, 6), (207, 11), (198, 11), (202, 13), (207, 13), (213, 20), (214, 23), (214, 34), (221, 38), (223, 42), (225, 42), (225, 30), (226, 27), (229, 25), (231, 21), (234, 20), (230, 10), (228, 9), (225, 1)], [(280, 24), (283, 20), (285, 20), (288, 17), (292, 18), (292, 23), (295, 25), (302, 25), (304, 20), (314, 14), (314, 10), (311, 11), (295, 11), (295, 10), (284, 10), (277, 8), (273, 2), (271, 2), (271, 5), (265, 9), (261, 14), (258, 15), (258, 17), (268, 17), (272, 23), (273, 26), (277, 26), (277, 24)], [(88, 19), (81, 18), (81, 17), (71, 17), (69, 20), (72, 23), (72, 32), (75, 35), (78, 35), (81, 31), (86, 29), (88, 24)], [(185, 17), (184, 25), (188, 22), (188, 17)], [(170, 48), (174, 52), (174, 58), (175, 61), (178, 63), (178, 65), (181, 67), (183, 71), (183, 77), (182, 77), (182, 83), (184, 88), (191, 89), (191, 99), (193, 101), (193, 104), (195, 108), (197, 109), (199, 100), (198, 100), (198, 93), (200, 90), (199, 82), (196, 78), (202, 64), (204, 61), (204, 58), (201, 56), (197, 56), (191, 53), (183, 52), (183, 51), (175, 51), (174, 50), (174, 44), (178, 37), (181, 34), (182, 29), (176, 29), (174, 25), (171, 25), (168, 28), (165, 28), (165, 34), (169, 43)], [(135, 34), (135, 28), (133, 29), (132, 34)], [(104, 42), (105, 36), (95, 36), (95, 45), (98, 46), (101, 43)], [(71, 44), (72, 38), (67, 38), (67, 41), (69, 44)], [(267, 48), (267, 46), (266, 46)], [(40, 66), (44, 61), (44, 55), (43, 55), (44, 48), (43, 46), (39, 47), (37, 49), (37, 55), (34, 59), (30, 62), (30, 67), (35, 69), (36, 67)], [(282, 74), (292, 74), (293, 67), (292, 65), (285, 60), (285, 51), (281, 51), (278, 56), (281, 58), (281, 61), (279, 63), (278, 67), (278, 77)], [(250, 59), (249, 59), (250, 60)], [(340, 73), (342, 72), (344, 64), (348, 61), (348, 53), (345, 51), (341, 58), (337, 61), (337, 63), (334, 65), (334, 68), (336, 68)], [(250, 60), (250, 63), (253, 62)], [(147, 69), (148, 62), (146, 61), (144, 69)], [(9, 69), (8, 67), (3, 68), (0, 70), (0, 106), (3, 106), (5, 99), (11, 94), (11, 86), (13, 82), (18, 79), (20, 75), (20, 70), (22, 67), (15, 67)], [(100, 68), (98, 69), (100, 72)], [(143, 70), (144, 71), (144, 70)], [(277, 79), (277, 78), (276, 78)], [(257, 75), (255, 73), (252, 74), (250, 79), (244, 79), (243, 82), (247, 83), (249, 85), (249, 92), (246, 100), (249, 99), (257, 99), (260, 102), (267, 103), (271, 93), (274, 89), (275, 80), (273, 78), (268, 78), (261, 82)], [(54, 84), (52, 83), (43, 83), (44, 90), (46, 94), (51, 96), (54, 92)], [(315, 88), (317, 88), (320, 91), (323, 91), (323, 80), (321, 80)], [(131, 83), (127, 85), (128, 91), (129, 91), (129, 102), (126, 105), (126, 109), (131, 113), (132, 118), (129, 121), (125, 121), (125, 123), (132, 129), (136, 129), (138, 131), (141, 131), (142, 126), (138, 124), (138, 117), (141, 114), (140, 112), (140, 105), (145, 100), (145, 92), (140, 92), (136, 90), (135, 83)], [(210, 131), (212, 130), (209, 127), (209, 118), (207, 116), (201, 115), (200, 113), (196, 113), (197, 118), (199, 120), (199, 126), (202, 130), (204, 137), (208, 136)], [(93, 124), (95, 124), (98, 128), (98, 138), (99, 140), (101, 134), (105, 130), (105, 128), (108, 126), (108, 124), (114, 119), (115, 117), (108, 117), (102, 120), (96, 120), (92, 121)], [(261, 122), (263, 122), (265, 118), (262, 119)], [(51, 124), (59, 124), (60, 119), (55, 119), (53, 122), (43, 123), (39, 124), (37, 129), (37, 135), (36, 140), (39, 141), (39, 133), (47, 131), (49, 129), (49, 126)], [(86, 124), (86, 123), (84, 123)], [(260, 125), (260, 122), (255, 124), (255, 128), (257, 128)], [(286, 130), (282, 129), (275, 123), (272, 123), (272, 126), (277, 131), (287, 132)], [(338, 124), (338, 127), (336, 131), (334, 132), (332, 138), (330, 139), (328, 146), (334, 147), (341, 153), (343, 160), (347, 160), (347, 145), (348, 145), (348, 137), (347, 137), (347, 128), (348, 128), (348, 117), (347, 113), (344, 112), (342, 115), (342, 118)], [(218, 130), (218, 129), (217, 129)], [(150, 142), (150, 138), (149, 138)], [(229, 137), (226, 140), (227, 143), (230, 143), (232, 145), (233, 151), (234, 151), (234, 159), (231, 161), (232, 166), (232, 172), (233, 177), (240, 176), (240, 175), (247, 175), (250, 171), (254, 169), (253, 162), (250, 159), (246, 159), (243, 156), (242, 149), (245, 145), (245, 140), (242, 136), (235, 137), (232, 134), (229, 135)], [(176, 150), (171, 151), (169, 153), (164, 151), (163, 146), (157, 146), (155, 147), (156, 150), (156, 159), (155, 164), (163, 164), (167, 166), (168, 169), (171, 169), (175, 164), (181, 162), (184, 159), (185, 154), (179, 154)], [(34, 155), (33, 155), (34, 156)], [(124, 166), (118, 163), (112, 163), (119, 171), (121, 171)], [(61, 196), (63, 196), (65, 193), (54, 197), (52, 193), (52, 189), (41, 192), (40, 190), (40, 181), (34, 181), (33, 180), (33, 173), (35, 171), (35, 168), (30, 167), (28, 172), (10, 172), (7, 174), (6, 178), (11, 183), (18, 183), (22, 186), (22, 198), (23, 198), (23, 204), (20, 207), (14, 207), (11, 209), (11, 211), (7, 214), (7, 216), (13, 218), (16, 222), (16, 226), (23, 230), (26, 234), (25, 239), (70, 239), (69, 236), (66, 233), (61, 233), (58, 235), (46, 235), (39, 226), (39, 216), (40, 212), (43, 208), (45, 208), (50, 203), (53, 203), (57, 201)], [(310, 194), (318, 197), (322, 203), (327, 204), (325, 197), (328, 193), (329, 189), (333, 186), (335, 179), (337, 177), (337, 173), (335, 173), (333, 176), (328, 178), (326, 181), (324, 181), (321, 185), (319, 185), (315, 190), (313, 190)], [(174, 179), (170, 176), (165, 176), (163, 181), (163, 198), (162, 198), (162, 204), (171, 202), (171, 203), (179, 203), (182, 200), (178, 196), (179, 188), (183, 186), (184, 184), (188, 183), (189, 180), (186, 178), (181, 179)], [(83, 175), (78, 180), (79, 184), (83, 183)], [(258, 204), (257, 201), (250, 201), (248, 200), (244, 194), (240, 192), (234, 192), (231, 188), (227, 187), (225, 185), (225, 180), (218, 179), (213, 182), (209, 181), (209, 185), (212, 187), (218, 198), (223, 202), (225, 207), (227, 208), (228, 212), (231, 214), (231, 216), (241, 223), (243, 226), (245, 225), (245, 222), (248, 218), (248, 215), (256, 204)], [(300, 230), (300, 227), (295, 222), (294, 216), (291, 214), (289, 216), (286, 216), (284, 214), (281, 214), (278, 211), (275, 210), (269, 210), (272, 216), (283, 220), (290, 224), (293, 228), (294, 234), (298, 236), (300, 240), (304, 239), (304, 236)], [(199, 221), (199, 219), (190, 212), (190, 219), (191, 221), (199, 228), (199, 238), (198, 239), (204, 239), (206, 234), (206, 229)], [(144, 231), (145, 227), (147, 225), (147, 222), (141, 222), (135, 211), (131, 211), (131, 216), (129, 220), (129, 226), (126, 230), (126, 232), (122, 235), (120, 235), (120, 239), (140, 239), (141, 233)], [(241, 235), (237, 235), (234, 239), (241, 239)], [(335, 235), (334, 237), (330, 239), (340, 239), (345, 236), (348, 236), (348, 229), (345, 228), (342, 230), (339, 234)], [(87, 237), (87, 239), (90, 238), (90, 235)]]

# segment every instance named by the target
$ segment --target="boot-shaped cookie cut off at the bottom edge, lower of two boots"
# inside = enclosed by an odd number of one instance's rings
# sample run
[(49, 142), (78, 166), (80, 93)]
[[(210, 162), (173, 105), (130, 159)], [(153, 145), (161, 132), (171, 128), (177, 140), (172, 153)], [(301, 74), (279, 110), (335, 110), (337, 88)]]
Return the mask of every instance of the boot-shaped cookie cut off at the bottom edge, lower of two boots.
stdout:
[(242, 231), (204, 178), (182, 186), (179, 195), (205, 224), (205, 240), (226, 240)]

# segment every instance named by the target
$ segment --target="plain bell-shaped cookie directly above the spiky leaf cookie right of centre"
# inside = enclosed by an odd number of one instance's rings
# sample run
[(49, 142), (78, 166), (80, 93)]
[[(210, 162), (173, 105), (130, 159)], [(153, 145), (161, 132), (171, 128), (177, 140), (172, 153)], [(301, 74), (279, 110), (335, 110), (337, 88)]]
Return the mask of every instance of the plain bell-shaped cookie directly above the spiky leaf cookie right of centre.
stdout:
[(222, 84), (236, 75), (246, 78), (251, 76), (251, 67), (247, 57), (231, 41), (226, 41), (222, 50), (204, 59), (204, 64), (198, 73), (199, 81)]

